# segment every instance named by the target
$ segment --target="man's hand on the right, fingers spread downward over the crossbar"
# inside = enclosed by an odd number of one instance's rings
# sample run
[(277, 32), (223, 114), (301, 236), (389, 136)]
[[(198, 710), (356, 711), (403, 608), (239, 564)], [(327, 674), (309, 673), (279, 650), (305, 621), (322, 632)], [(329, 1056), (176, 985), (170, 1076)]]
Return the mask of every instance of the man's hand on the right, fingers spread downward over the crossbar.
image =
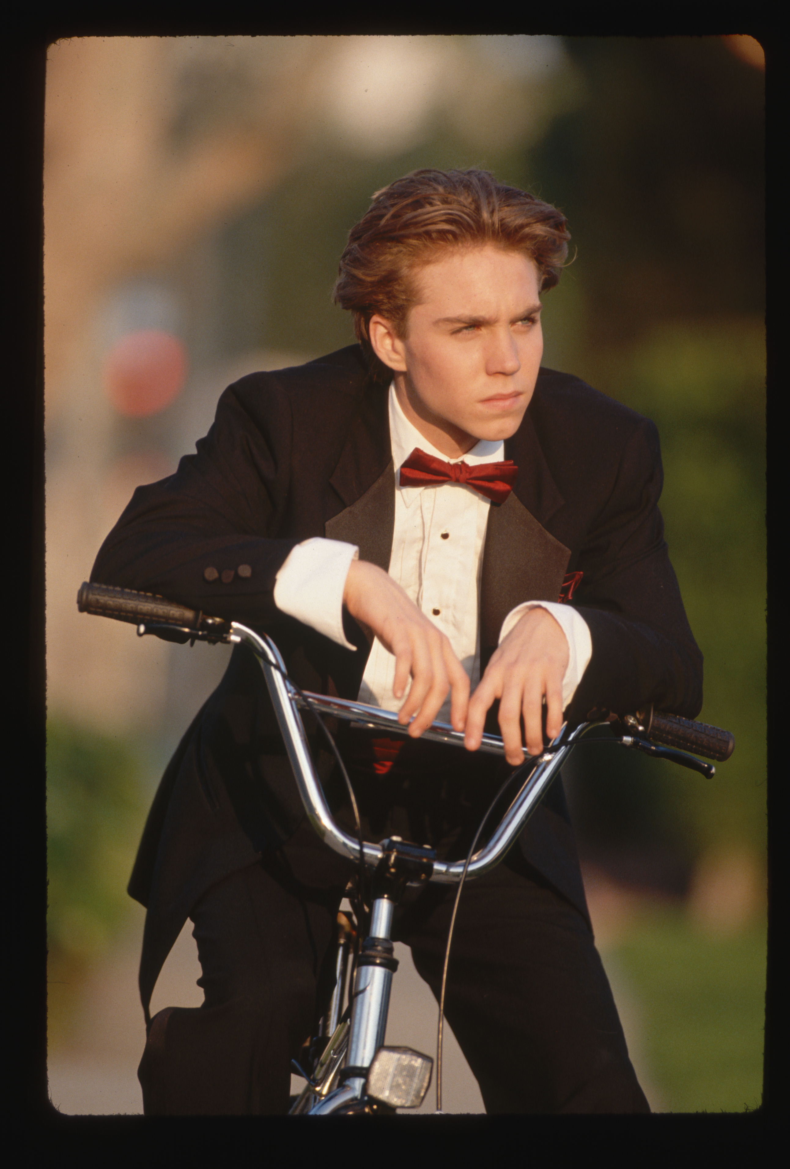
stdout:
[(485, 717), (499, 699), (499, 728), (505, 758), (513, 767), (524, 762), (521, 717), (527, 752), (543, 750), (543, 699), (546, 732), (556, 738), (562, 727), (562, 679), (568, 667), (568, 642), (548, 609), (528, 609), (496, 651), (474, 691), (466, 717), (465, 745), (477, 750)]

